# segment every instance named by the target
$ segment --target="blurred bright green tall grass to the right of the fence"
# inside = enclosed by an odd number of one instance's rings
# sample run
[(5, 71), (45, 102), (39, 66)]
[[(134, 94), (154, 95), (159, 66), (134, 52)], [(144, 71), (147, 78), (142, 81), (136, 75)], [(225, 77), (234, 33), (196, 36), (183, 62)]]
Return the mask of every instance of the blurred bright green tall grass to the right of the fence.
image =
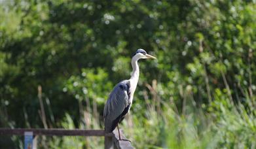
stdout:
[(185, 108), (186, 113), (178, 114), (173, 105), (164, 103), (160, 113), (152, 107), (143, 111), (144, 116), (132, 113), (132, 120), (123, 124), (125, 134), (136, 148), (256, 147), (253, 107), (246, 110), (242, 104), (232, 105), (228, 99), (216, 99), (208, 107), (211, 110)]

